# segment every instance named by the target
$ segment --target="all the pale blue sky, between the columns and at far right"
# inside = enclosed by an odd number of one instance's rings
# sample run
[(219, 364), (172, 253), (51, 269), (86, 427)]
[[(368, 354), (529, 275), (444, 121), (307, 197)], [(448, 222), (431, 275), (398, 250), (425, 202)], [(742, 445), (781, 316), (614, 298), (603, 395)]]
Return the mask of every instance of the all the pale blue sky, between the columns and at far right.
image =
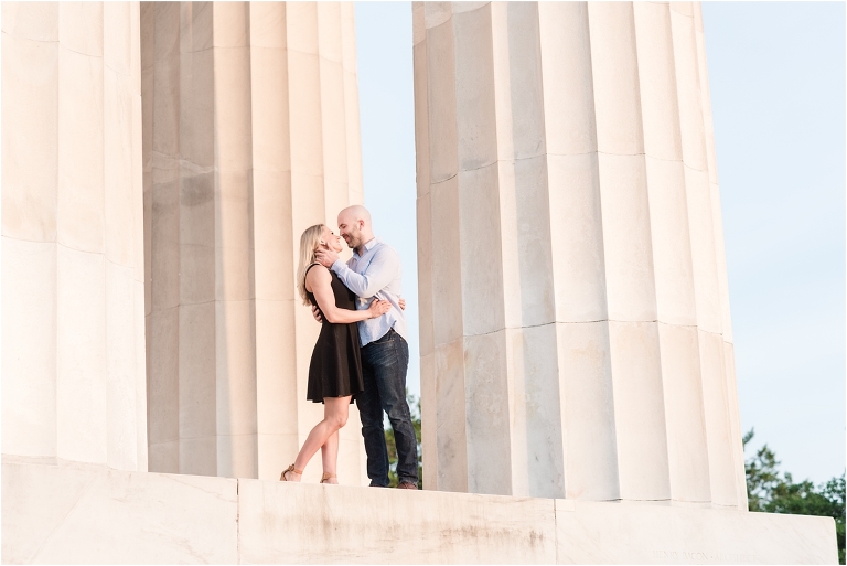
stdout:
[[(704, 2), (747, 450), (845, 469), (845, 4)], [(404, 263), (420, 393), (411, 6), (356, 2), (365, 205)]]

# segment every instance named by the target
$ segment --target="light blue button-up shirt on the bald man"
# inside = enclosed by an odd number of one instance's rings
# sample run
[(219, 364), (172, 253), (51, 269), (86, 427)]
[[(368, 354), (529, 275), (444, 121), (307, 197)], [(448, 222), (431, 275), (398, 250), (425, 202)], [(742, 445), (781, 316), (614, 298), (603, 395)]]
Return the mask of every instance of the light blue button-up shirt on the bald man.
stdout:
[(374, 297), (392, 303), (392, 310), (379, 318), (358, 322), (358, 339), (362, 345), (379, 340), (392, 328), (408, 342), (406, 317), (399, 302), (403, 280), (400, 256), (392, 246), (379, 238), (373, 238), (364, 246), (365, 253), (360, 256), (353, 250), (353, 257), (344, 264), (336, 259), (332, 270), (347, 289), (358, 296), (357, 310), (371, 307)]

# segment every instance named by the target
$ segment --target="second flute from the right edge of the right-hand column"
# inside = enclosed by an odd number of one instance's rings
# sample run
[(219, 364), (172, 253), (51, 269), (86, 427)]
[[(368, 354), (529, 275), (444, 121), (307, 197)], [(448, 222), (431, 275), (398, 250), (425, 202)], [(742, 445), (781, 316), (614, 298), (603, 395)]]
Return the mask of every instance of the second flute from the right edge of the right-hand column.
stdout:
[(671, 12), (653, 3), (633, 10), (671, 493), (680, 502), (706, 503), (709, 460)]

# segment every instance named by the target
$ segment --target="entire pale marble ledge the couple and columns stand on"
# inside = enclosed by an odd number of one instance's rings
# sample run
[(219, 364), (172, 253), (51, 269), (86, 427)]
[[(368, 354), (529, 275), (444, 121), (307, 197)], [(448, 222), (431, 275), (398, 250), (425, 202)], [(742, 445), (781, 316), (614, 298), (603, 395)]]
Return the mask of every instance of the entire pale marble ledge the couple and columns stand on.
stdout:
[(3, 457), (3, 563), (836, 564), (828, 517)]

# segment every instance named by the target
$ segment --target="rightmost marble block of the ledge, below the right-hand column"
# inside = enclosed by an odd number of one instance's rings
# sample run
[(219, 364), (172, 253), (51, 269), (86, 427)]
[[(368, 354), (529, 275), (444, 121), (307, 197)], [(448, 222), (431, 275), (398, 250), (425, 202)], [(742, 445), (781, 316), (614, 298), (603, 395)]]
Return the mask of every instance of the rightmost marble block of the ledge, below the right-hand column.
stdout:
[[(571, 511), (568, 511), (571, 509)], [(556, 500), (558, 564), (836, 564), (830, 517)]]

